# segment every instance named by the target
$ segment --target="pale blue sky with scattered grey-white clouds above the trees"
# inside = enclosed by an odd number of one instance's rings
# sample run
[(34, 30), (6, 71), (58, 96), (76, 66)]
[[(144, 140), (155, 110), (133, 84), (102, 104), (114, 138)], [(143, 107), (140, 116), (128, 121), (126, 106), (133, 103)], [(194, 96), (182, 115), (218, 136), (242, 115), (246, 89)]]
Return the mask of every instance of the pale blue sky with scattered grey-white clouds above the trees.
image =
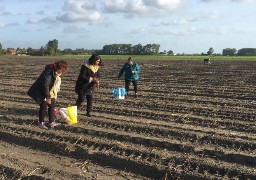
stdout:
[(160, 44), (202, 53), (256, 48), (256, 0), (0, 0), (3, 48)]

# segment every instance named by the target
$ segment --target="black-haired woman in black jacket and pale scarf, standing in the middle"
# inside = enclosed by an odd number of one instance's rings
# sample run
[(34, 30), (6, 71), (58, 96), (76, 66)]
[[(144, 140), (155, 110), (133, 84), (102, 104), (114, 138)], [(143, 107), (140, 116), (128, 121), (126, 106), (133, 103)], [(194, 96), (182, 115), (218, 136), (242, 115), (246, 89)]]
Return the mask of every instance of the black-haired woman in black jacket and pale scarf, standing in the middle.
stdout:
[(76, 81), (75, 92), (78, 94), (76, 106), (79, 108), (86, 98), (86, 116), (88, 117), (91, 117), (93, 93), (100, 85), (100, 66), (102, 66), (100, 56), (93, 54), (88, 60), (84, 61)]

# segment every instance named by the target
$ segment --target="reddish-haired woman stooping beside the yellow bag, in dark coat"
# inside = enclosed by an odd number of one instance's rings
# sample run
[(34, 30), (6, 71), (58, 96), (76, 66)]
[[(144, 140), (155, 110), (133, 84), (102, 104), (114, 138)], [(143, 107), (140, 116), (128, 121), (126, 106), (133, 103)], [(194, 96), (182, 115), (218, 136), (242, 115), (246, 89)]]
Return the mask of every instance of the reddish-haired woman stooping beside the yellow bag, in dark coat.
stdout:
[(55, 101), (60, 90), (62, 73), (66, 73), (68, 65), (66, 61), (57, 61), (54, 64), (45, 66), (45, 69), (38, 79), (29, 88), (27, 94), (32, 97), (39, 105), (39, 127), (48, 129), (44, 119), (48, 107), (49, 126), (55, 127), (58, 123), (54, 122)]

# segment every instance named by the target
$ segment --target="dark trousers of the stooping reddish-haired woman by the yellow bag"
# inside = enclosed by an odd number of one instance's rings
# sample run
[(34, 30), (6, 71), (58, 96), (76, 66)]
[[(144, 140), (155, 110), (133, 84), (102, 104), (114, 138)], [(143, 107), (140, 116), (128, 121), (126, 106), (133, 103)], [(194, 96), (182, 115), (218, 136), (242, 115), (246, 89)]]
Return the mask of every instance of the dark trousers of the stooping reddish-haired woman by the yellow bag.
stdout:
[(48, 117), (49, 117), (49, 123), (54, 121), (54, 110), (55, 110), (55, 98), (51, 98), (52, 103), (51, 104), (47, 104), (46, 101), (43, 101), (40, 104), (40, 109), (39, 109), (39, 122), (44, 122), (44, 119), (47, 115), (46, 111), (47, 111), (47, 107), (48, 107)]

